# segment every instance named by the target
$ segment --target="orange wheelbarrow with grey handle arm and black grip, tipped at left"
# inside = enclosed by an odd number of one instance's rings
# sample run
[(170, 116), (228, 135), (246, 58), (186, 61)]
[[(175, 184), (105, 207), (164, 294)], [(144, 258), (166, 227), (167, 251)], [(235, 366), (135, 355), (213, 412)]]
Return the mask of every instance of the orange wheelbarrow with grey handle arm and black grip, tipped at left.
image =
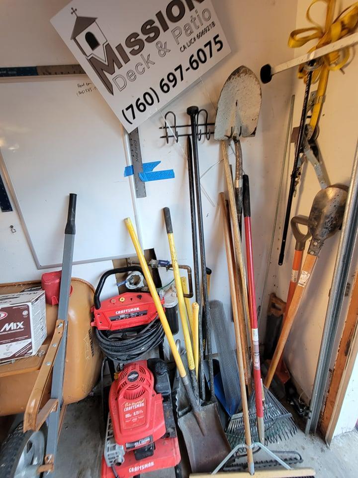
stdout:
[[(44, 285), (47, 338), (34, 357), (0, 365), (0, 417), (23, 414), (1, 448), (1, 477), (35, 478), (54, 471), (66, 407), (85, 398), (99, 376), (102, 356), (90, 327), (94, 289), (71, 279), (76, 198), (69, 196), (61, 279), (50, 273), (51, 293)], [(0, 294), (32, 287), (41, 284), (2, 284)]]

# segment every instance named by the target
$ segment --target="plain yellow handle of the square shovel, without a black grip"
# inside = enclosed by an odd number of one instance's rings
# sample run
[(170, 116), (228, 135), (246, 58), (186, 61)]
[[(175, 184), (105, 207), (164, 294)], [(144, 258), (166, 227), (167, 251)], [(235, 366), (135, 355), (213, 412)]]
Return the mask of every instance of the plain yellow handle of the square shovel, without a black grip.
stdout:
[(142, 267), (142, 270), (143, 270), (143, 274), (144, 274), (144, 277), (147, 281), (147, 284), (148, 284), (148, 287), (149, 287), (149, 290), (150, 290), (150, 293), (152, 295), (152, 298), (153, 298), (153, 301), (154, 301), (154, 304), (156, 306), (156, 309), (157, 309), (157, 312), (158, 312), (158, 315), (159, 315), (159, 319), (161, 321), (161, 324), (162, 324), (162, 327), (164, 329), (164, 332), (165, 332), (165, 335), (167, 337), (167, 340), (169, 342), (169, 346), (171, 348), (171, 351), (172, 351), (172, 355), (174, 357), (174, 360), (177, 364), (177, 368), (178, 368), (178, 371), (179, 371), (179, 375), (181, 378), (184, 378), (186, 376), (186, 370), (185, 370), (185, 367), (184, 367), (184, 364), (181, 360), (181, 357), (180, 357), (180, 354), (177, 350), (177, 346), (176, 346), (176, 343), (175, 343), (175, 340), (174, 340), (174, 337), (173, 337), (173, 334), (172, 334), (172, 331), (171, 331), (171, 328), (168, 324), (168, 320), (167, 320), (167, 317), (164, 313), (164, 310), (163, 310), (163, 306), (161, 304), (161, 301), (160, 301), (160, 298), (158, 296), (158, 292), (157, 292), (157, 289), (154, 285), (154, 282), (153, 282), (153, 277), (151, 276), (151, 273), (149, 272), (149, 268), (148, 268), (148, 264), (147, 264), (147, 261), (145, 260), (145, 257), (144, 257), (144, 254), (143, 254), (143, 251), (142, 251), (142, 248), (140, 246), (140, 243), (139, 243), (139, 240), (138, 240), (138, 237), (137, 237), (137, 234), (136, 232), (134, 231), (134, 228), (133, 228), (133, 224), (132, 224), (132, 221), (130, 218), (126, 218), (124, 220), (124, 223), (126, 225), (126, 228), (128, 230), (128, 233), (129, 233), (129, 236), (131, 237), (132, 239), (132, 242), (133, 242), (133, 245), (134, 245), (134, 248), (137, 252), (137, 256), (138, 256), (138, 259), (139, 259), (139, 263)]

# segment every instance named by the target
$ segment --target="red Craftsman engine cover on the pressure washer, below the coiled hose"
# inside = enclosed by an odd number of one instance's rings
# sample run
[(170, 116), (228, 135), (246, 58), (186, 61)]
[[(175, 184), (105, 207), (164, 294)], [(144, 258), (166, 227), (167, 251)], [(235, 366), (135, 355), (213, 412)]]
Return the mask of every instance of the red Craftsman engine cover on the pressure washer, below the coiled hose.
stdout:
[(125, 450), (149, 445), (166, 433), (162, 395), (154, 390), (147, 361), (126, 365), (109, 392), (114, 438)]

